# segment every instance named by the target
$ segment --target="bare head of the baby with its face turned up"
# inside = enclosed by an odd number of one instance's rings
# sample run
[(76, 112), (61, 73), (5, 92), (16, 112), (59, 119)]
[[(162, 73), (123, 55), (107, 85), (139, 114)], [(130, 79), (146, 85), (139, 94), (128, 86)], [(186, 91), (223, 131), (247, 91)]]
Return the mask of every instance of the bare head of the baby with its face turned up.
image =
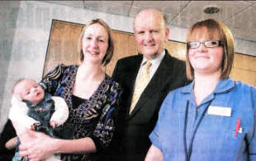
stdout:
[(39, 103), (45, 97), (45, 91), (36, 81), (28, 78), (23, 78), (17, 81), (12, 90), (13, 94), (21, 97), (22, 100)]

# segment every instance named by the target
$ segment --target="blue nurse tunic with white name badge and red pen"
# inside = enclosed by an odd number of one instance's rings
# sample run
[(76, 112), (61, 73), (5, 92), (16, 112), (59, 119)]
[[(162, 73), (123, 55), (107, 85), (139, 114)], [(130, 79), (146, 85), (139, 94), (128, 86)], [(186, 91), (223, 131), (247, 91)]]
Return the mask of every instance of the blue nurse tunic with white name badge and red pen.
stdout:
[(256, 160), (256, 88), (220, 80), (196, 107), (193, 85), (168, 94), (149, 135), (164, 160)]

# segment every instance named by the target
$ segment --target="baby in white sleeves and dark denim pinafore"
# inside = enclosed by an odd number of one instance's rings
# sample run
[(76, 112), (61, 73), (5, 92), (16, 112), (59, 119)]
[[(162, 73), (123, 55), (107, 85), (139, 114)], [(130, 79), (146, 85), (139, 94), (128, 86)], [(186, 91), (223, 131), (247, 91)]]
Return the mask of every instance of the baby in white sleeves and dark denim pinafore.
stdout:
[[(11, 121), (51, 137), (72, 139), (72, 130), (58, 127), (69, 116), (69, 108), (62, 97), (51, 97), (34, 80), (27, 78), (19, 80), (12, 93)], [(12, 160), (21, 160), (18, 150)], [(51, 156), (46, 160), (60, 159)]]

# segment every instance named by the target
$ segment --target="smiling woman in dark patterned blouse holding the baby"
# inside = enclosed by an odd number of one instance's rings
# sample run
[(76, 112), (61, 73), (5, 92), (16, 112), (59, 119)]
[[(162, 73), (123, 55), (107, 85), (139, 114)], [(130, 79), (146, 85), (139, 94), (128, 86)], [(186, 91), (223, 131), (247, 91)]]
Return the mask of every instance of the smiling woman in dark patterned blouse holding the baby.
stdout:
[[(19, 130), (21, 156), (32, 160), (62, 154), (62, 160), (95, 160), (104, 157), (116, 130), (116, 110), (122, 89), (102, 65), (111, 60), (113, 41), (111, 29), (100, 20), (92, 20), (80, 36), (80, 65), (58, 65), (40, 82), (46, 92), (63, 97), (69, 107), (65, 126), (73, 126), (73, 140), (57, 140), (28, 130)], [(27, 135), (29, 134), (29, 135)], [(50, 147), (50, 148), (49, 148)]]

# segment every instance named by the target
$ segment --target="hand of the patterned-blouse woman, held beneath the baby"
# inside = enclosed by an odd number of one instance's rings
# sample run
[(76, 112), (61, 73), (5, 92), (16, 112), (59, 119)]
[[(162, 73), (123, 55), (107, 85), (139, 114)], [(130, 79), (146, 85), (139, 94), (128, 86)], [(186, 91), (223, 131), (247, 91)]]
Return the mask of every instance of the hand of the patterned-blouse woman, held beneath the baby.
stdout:
[(43, 160), (55, 153), (53, 150), (55, 139), (50, 138), (48, 135), (26, 130), (26, 133), (21, 134), (19, 137), (21, 140), (19, 149), (22, 157), (27, 157), (31, 161)]

